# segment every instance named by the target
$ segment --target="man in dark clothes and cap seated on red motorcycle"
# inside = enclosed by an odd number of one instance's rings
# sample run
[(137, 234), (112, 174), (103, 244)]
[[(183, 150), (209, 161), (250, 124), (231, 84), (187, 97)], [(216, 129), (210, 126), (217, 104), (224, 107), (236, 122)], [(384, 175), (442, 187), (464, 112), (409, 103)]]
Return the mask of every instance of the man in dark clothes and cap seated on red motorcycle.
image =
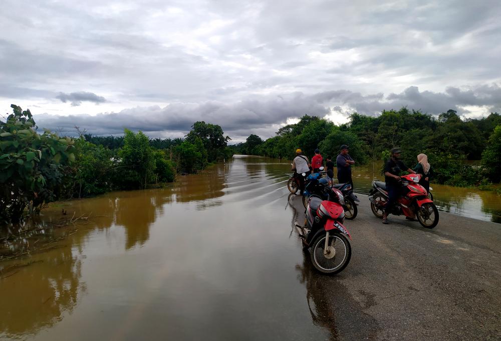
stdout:
[(391, 212), (391, 207), (397, 201), (400, 195), (400, 172), (407, 171), (416, 174), (412, 169), (404, 165), (400, 160), (400, 149), (393, 148), (391, 158), (384, 165), (384, 181), (386, 182), (386, 191), (388, 192), (388, 202), (384, 209), (383, 224), (388, 224), (388, 214)]

